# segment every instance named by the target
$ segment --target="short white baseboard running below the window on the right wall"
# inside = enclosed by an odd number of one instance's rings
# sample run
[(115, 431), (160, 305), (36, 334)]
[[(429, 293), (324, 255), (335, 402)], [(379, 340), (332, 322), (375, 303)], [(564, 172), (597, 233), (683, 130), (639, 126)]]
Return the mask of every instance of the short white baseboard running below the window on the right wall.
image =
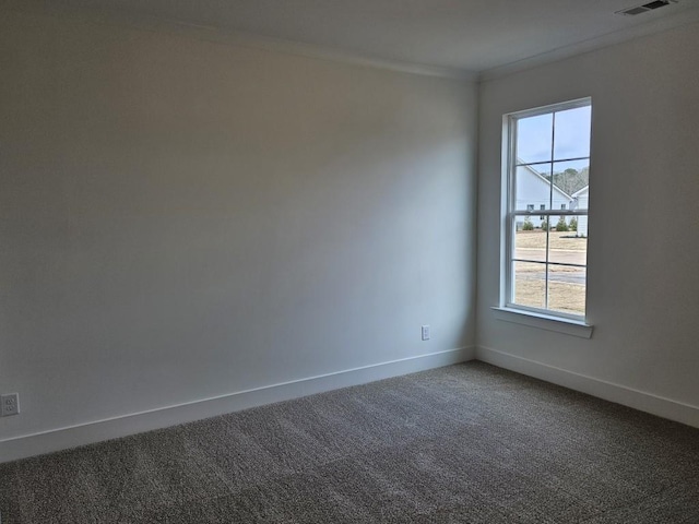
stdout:
[(699, 428), (699, 406), (673, 401), (644, 391), (568, 371), (529, 358), (510, 355), (489, 347), (478, 346), (476, 359), (545, 380), (571, 390), (580, 391), (605, 401), (632, 407), (678, 422)]

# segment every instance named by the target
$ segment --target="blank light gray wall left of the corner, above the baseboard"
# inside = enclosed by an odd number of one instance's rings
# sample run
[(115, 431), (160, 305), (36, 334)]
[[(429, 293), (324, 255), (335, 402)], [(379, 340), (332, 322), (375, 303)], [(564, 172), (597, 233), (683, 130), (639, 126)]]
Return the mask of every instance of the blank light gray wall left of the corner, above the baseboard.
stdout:
[(473, 83), (36, 13), (0, 63), (0, 438), (474, 343)]

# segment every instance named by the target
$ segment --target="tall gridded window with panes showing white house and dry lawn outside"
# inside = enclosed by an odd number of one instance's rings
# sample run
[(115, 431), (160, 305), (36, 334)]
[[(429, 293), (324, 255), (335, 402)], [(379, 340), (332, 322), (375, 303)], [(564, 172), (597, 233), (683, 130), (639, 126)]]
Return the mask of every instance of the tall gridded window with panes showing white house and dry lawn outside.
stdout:
[(584, 320), (591, 114), (585, 98), (505, 117), (508, 308)]

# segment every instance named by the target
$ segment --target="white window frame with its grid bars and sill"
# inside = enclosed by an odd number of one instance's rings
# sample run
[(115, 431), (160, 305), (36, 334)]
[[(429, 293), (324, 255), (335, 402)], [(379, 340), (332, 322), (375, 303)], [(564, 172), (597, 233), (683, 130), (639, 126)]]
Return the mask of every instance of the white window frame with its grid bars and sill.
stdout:
[[(580, 211), (580, 210), (533, 210), (533, 211), (523, 211), (523, 210), (517, 210), (517, 204), (516, 204), (516, 171), (517, 171), (517, 157), (516, 157), (516, 145), (517, 145), (517, 127), (514, 126), (514, 123), (517, 122), (517, 120), (521, 119), (521, 118), (526, 118), (526, 117), (534, 117), (534, 116), (538, 116), (538, 115), (546, 115), (546, 114), (550, 114), (550, 112), (555, 112), (555, 111), (561, 111), (561, 110), (566, 110), (566, 109), (574, 109), (577, 107), (585, 107), (585, 106), (592, 106), (592, 98), (591, 97), (585, 97), (585, 98), (580, 98), (580, 99), (576, 99), (576, 100), (571, 100), (571, 102), (564, 102), (564, 103), (559, 103), (559, 104), (553, 104), (549, 106), (543, 106), (543, 107), (538, 107), (538, 108), (534, 108), (534, 109), (528, 109), (524, 111), (517, 111), (517, 112), (511, 112), (508, 115), (505, 115), (502, 118), (502, 123), (503, 123), (503, 155), (502, 155), (502, 176), (503, 176), (503, 188), (507, 191), (506, 194), (503, 194), (503, 205), (505, 205), (505, 210), (503, 210), (503, 215), (505, 215), (505, 221), (503, 221), (503, 227), (505, 230), (503, 233), (503, 238), (505, 238), (505, 253), (502, 257), (502, 264), (503, 264), (503, 271), (502, 271), (502, 276), (503, 276), (503, 286), (501, 286), (501, 293), (500, 293), (500, 307), (496, 308), (498, 310), (500, 310), (500, 313), (498, 315), (498, 318), (500, 318), (500, 320), (509, 320), (512, 322), (518, 322), (518, 323), (528, 323), (529, 325), (535, 325), (535, 326), (540, 326), (542, 320), (544, 322), (547, 321), (564, 321), (566, 323), (572, 323), (572, 324), (578, 324), (580, 326), (583, 326), (584, 333), (582, 336), (585, 337), (590, 337), (592, 334), (592, 326), (590, 324), (587, 323), (587, 314), (588, 314), (588, 305), (587, 305), (587, 277), (585, 277), (585, 314), (573, 314), (573, 313), (567, 313), (564, 311), (557, 311), (557, 310), (553, 310), (553, 309), (547, 309), (547, 308), (534, 308), (534, 307), (530, 307), (530, 306), (524, 306), (521, 303), (516, 303), (513, 301), (513, 296), (514, 296), (514, 275), (513, 275), (513, 262), (516, 261), (514, 258), (514, 231), (516, 231), (516, 223), (519, 219), (526, 217), (526, 216), (533, 216), (533, 215), (537, 215), (537, 216), (545, 216), (548, 222), (550, 223), (550, 217), (558, 217), (558, 216), (571, 216), (571, 217), (578, 217), (578, 216), (589, 216), (589, 211), (584, 210), (584, 211)], [(555, 127), (554, 127), (555, 130)], [(554, 131), (555, 133), (555, 131)], [(552, 143), (553, 140), (555, 138), (555, 134), (552, 135)], [(553, 150), (553, 147), (552, 147)], [(585, 158), (585, 157), (582, 157)], [(590, 152), (590, 156), (588, 158), (592, 158), (592, 153)], [(572, 160), (572, 159), (577, 159), (577, 158), (560, 158), (560, 159), (554, 159), (553, 158), (553, 152), (552, 152), (552, 158), (546, 162), (566, 162), (566, 160)], [(553, 188), (552, 188), (553, 191)], [(548, 251), (546, 253), (546, 267), (550, 264), (550, 262), (548, 261)], [(566, 265), (576, 265), (576, 264), (566, 264)], [(584, 267), (587, 270), (587, 262), (584, 264)], [(546, 272), (546, 274), (548, 274), (548, 272)], [(548, 281), (548, 276), (546, 276), (546, 279)], [(546, 282), (546, 293), (548, 293), (548, 282)], [(502, 312), (507, 313), (507, 314), (502, 314)], [(531, 317), (533, 320), (530, 321), (525, 321), (525, 322), (521, 322), (518, 320), (512, 320), (512, 315), (510, 313), (524, 313), (529, 317)], [(508, 318), (509, 315), (509, 318)], [(550, 322), (549, 322), (550, 323)], [(546, 329), (546, 327), (544, 327)], [(554, 331), (559, 331), (558, 329), (552, 327)], [(564, 329), (561, 332), (566, 332), (567, 329)], [(571, 333), (574, 334), (574, 333)]]

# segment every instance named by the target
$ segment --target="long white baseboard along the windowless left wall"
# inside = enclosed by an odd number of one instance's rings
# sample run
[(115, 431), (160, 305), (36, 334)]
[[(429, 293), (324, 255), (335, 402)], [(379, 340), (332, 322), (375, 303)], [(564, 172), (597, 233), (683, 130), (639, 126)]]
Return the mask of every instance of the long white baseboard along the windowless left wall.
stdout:
[(0, 441), (0, 463), (472, 360), (475, 347), (418, 355)]

